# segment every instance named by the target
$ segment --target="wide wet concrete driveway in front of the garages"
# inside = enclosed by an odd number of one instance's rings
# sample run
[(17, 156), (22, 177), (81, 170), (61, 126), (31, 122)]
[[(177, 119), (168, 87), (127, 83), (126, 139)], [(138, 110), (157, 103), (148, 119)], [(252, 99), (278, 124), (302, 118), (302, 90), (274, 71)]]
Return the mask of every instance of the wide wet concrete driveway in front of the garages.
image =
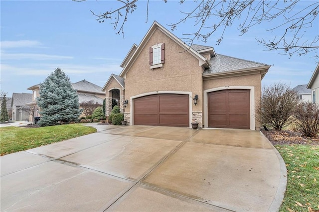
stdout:
[(286, 167), (259, 131), (96, 125), (1, 160), (1, 211), (277, 211)]

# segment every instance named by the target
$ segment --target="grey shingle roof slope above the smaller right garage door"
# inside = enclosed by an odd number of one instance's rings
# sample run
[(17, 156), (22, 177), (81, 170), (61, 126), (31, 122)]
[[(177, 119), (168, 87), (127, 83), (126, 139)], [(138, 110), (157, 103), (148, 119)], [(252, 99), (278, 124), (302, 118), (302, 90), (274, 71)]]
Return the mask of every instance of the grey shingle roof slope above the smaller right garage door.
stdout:
[(230, 56), (218, 54), (210, 59), (211, 67), (206, 69), (203, 74), (212, 74), (218, 72), (235, 71), (240, 69), (268, 66), (267, 64), (257, 63), (249, 60), (243, 60)]

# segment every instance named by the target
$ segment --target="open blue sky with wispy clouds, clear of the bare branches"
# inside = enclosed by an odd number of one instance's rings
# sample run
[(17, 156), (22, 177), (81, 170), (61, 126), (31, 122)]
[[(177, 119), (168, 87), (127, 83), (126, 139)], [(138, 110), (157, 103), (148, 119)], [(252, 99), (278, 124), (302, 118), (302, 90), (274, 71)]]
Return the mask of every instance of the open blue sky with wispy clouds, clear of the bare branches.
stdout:
[[(314, 1), (302, 1), (310, 4)], [(186, 1), (150, 0), (138, 1), (137, 10), (129, 14), (124, 25), (124, 38), (117, 35), (111, 22), (99, 23), (92, 11), (99, 13), (122, 5), (115, 0), (0, 0), (0, 89), (11, 97), (12, 93), (31, 93), (27, 88), (37, 85), (60, 67), (72, 83), (83, 79), (103, 87), (110, 75), (119, 75), (120, 64), (135, 43), (143, 37), (156, 20), (170, 30), (173, 22), (194, 5)], [(298, 9), (298, 8), (296, 8)], [(210, 20), (209, 20), (210, 21)], [(304, 56), (280, 55), (279, 51), (267, 51), (256, 38), (271, 40), (274, 31), (266, 31), (282, 20), (273, 20), (251, 28), (240, 36), (237, 26), (228, 28), (220, 45), (219, 35), (212, 35), (207, 42), (194, 44), (212, 46), (217, 54), (271, 65), (262, 80), (263, 86), (282, 82), (290, 87), (308, 84), (318, 64), (313, 54)], [(194, 29), (186, 22), (173, 31), (179, 38)], [(319, 35), (319, 18), (307, 28), (304, 37)], [(318, 44), (317, 44), (318, 45)], [(282, 52), (281, 52), (282, 53)]]

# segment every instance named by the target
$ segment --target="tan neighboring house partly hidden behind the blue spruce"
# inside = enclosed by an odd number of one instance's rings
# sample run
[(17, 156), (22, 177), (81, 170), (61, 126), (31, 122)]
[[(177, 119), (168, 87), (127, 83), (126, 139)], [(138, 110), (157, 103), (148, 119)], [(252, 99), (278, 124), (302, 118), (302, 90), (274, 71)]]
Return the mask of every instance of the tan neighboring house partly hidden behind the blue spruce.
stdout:
[[(102, 87), (90, 83), (86, 80), (81, 80), (77, 83), (71, 83), (73, 89), (76, 90), (79, 96), (79, 104), (87, 101), (93, 100), (95, 103), (103, 105), (103, 100), (105, 98), (105, 93), (102, 92)], [(39, 109), (36, 106), (36, 98), (39, 96), (39, 88), (40, 84), (31, 86), (27, 90), (32, 91), (32, 101), (30, 101), (27, 105), (28, 106), (35, 106), (36, 109), (34, 110), (34, 117), (40, 116)], [(30, 119), (32, 116), (30, 115)]]

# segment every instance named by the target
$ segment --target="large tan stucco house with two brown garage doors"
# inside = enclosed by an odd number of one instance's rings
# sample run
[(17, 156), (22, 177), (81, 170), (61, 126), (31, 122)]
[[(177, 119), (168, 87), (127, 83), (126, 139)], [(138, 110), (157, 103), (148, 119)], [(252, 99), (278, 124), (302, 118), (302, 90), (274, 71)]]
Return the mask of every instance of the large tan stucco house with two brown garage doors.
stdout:
[(155, 21), (121, 67), (103, 87), (107, 115), (118, 99), (132, 125), (260, 128), (255, 107), (269, 65), (189, 47)]

